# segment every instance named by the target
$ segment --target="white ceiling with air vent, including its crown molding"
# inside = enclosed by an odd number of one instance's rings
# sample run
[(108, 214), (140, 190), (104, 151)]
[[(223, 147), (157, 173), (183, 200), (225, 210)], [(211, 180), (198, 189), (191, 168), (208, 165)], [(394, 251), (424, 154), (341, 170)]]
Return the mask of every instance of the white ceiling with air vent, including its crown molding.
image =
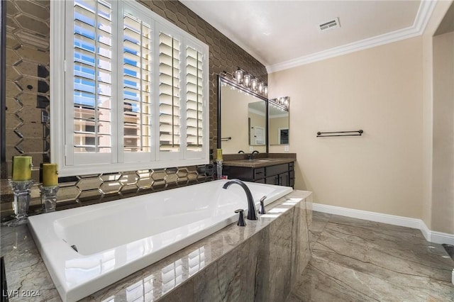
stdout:
[[(268, 72), (420, 35), (435, 1), (179, 0)], [(320, 31), (339, 18), (341, 28)]]

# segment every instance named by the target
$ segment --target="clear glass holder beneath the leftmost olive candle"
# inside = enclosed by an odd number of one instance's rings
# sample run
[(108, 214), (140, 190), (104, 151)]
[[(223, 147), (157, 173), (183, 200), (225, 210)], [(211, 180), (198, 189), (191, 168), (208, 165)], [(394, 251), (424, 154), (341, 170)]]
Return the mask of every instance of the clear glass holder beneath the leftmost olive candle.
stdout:
[(33, 179), (25, 181), (9, 181), (9, 185), (13, 189), (14, 201), (13, 209), (14, 216), (13, 220), (9, 220), (4, 225), (16, 226), (28, 223), (28, 206), (30, 205), (30, 189), (33, 186)]

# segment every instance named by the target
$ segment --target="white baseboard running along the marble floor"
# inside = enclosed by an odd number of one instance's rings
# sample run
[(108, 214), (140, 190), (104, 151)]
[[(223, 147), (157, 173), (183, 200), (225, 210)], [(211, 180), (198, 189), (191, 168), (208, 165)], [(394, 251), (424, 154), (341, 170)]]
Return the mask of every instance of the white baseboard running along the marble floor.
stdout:
[(390, 225), (399, 225), (406, 228), (416, 228), (421, 230), (424, 238), (428, 242), (446, 243), (454, 245), (454, 234), (441, 233), (427, 228), (426, 223), (418, 218), (409, 218), (404, 216), (389, 215), (383, 213), (375, 213), (369, 211), (355, 210), (353, 208), (343, 208), (341, 206), (328, 206), (321, 203), (312, 203), (312, 210), (322, 213), (347, 216), (364, 220), (375, 221), (377, 223), (388, 223)]

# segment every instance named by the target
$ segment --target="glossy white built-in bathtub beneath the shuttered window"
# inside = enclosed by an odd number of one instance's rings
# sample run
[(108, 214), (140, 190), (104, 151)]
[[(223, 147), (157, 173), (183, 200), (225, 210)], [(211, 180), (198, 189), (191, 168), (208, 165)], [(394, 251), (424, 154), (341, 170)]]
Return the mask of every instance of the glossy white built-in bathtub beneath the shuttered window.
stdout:
[[(236, 222), (247, 199), (236, 184), (222, 189), (225, 182), (32, 216), (28, 225), (62, 300), (77, 301)], [(256, 204), (292, 191), (245, 184)]]

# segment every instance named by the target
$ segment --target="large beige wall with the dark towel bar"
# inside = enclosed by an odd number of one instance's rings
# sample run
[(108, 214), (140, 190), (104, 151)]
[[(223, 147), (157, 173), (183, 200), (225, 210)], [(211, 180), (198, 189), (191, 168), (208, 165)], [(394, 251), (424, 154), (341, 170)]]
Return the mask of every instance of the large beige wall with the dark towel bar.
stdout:
[(421, 218), (421, 37), (275, 72), (269, 84), (271, 96), (292, 99), (296, 189), (314, 191), (316, 203)]

